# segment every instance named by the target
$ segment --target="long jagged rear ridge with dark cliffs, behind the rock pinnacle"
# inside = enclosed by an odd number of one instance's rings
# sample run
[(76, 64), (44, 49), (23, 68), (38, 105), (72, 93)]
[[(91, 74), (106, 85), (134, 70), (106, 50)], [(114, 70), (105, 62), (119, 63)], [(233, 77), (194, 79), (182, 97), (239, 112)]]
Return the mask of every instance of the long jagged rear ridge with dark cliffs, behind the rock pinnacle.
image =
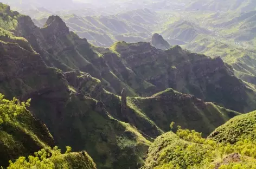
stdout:
[(114, 94), (126, 88), (128, 96), (150, 96), (173, 88), (238, 112), (256, 108), (255, 92), (219, 57), (210, 59), (178, 46), (163, 51), (145, 42), (93, 47), (69, 32), (58, 16), (49, 17), (42, 29), (30, 18), (20, 17), (17, 32), (28, 39), (47, 66), (87, 72)]

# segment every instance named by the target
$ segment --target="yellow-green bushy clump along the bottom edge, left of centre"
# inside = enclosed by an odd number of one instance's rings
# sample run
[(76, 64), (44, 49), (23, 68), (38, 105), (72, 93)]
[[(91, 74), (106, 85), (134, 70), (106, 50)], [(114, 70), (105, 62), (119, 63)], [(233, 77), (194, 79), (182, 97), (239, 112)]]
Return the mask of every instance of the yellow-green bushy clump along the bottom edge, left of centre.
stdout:
[(56, 146), (52, 148), (45, 148), (39, 152), (35, 152), (35, 156), (30, 155), (28, 160), (25, 157), (18, 158), (15, 163), (10, 161), (7, 169), (17, 168), (40, 168), (40, 169), (96, 169), (96, 166), (91, 157), (86, 152), (71, 153), (71, 147), (66, 147), (65, 154), (61, 154)]

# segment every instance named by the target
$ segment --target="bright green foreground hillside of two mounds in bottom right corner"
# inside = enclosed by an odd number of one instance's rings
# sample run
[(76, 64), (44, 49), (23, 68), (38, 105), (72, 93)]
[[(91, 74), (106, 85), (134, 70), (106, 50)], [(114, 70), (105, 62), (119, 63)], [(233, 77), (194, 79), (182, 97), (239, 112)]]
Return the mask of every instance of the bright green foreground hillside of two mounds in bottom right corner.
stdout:
[(254, 168), (254, 126), (255, 112), (236, 116), (207, 139), (178, 126), (176, 134), (156, 138), (142, 168)]

